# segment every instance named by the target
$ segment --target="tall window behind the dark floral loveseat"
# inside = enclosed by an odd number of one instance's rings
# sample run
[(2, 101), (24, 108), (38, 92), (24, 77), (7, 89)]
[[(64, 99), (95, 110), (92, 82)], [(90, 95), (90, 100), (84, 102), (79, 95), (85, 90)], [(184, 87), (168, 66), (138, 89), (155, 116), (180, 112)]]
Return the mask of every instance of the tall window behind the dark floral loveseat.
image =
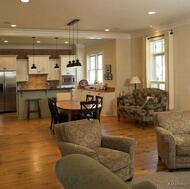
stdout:
[(147, 85), (151, 88), (166, 89), (166, 64), (164, 38), (149, 40)]

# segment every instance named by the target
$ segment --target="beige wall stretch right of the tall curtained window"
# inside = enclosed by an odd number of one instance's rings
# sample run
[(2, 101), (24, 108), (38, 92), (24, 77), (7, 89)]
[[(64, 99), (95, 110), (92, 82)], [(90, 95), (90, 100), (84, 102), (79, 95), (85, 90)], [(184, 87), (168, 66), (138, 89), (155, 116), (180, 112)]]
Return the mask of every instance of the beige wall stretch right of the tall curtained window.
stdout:
[(190, 25), (173, 29), (175, 109), (190, 110)]

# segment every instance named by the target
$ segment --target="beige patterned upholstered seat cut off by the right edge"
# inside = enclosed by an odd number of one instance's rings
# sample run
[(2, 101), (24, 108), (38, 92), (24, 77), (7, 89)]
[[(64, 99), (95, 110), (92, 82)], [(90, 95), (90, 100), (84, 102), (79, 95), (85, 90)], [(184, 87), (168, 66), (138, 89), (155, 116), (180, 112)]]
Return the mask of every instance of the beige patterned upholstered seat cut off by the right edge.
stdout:
[(190, 111), (159, 112), (154, 122), (158, 156), (169, 171), (190, 168)]

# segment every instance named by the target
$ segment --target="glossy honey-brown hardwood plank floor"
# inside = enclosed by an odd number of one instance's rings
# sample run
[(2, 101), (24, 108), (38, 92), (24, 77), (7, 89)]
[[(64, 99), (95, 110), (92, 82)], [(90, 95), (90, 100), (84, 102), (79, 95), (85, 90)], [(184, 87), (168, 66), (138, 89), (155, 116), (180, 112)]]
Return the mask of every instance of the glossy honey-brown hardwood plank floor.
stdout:
[[(152, 125), (145, 129), (131, 120), (101, 117), (103, 134), (135, 138), (134, 177), (166, 169), (158, 160)], [(61, 158), (50, 118), (18, 120), (16, 113), (0, 114), (0, 188), (63, 189), (55, 176), (55, 162)]]

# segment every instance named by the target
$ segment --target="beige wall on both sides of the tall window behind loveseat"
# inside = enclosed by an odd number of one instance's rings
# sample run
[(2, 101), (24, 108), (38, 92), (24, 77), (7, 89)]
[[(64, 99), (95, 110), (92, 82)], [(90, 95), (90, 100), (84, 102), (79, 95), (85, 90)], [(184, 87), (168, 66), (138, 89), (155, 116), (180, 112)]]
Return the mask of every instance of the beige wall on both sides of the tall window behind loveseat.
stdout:
[[(167, 31), (165, 31), (167, 32)], [(174, 40), (174, 98), (175, 110), (190, 110), (190, 25), (173, 28)], [(145, 86), (145, 37), (131, 40), (131, 72), (137, 74)]]

